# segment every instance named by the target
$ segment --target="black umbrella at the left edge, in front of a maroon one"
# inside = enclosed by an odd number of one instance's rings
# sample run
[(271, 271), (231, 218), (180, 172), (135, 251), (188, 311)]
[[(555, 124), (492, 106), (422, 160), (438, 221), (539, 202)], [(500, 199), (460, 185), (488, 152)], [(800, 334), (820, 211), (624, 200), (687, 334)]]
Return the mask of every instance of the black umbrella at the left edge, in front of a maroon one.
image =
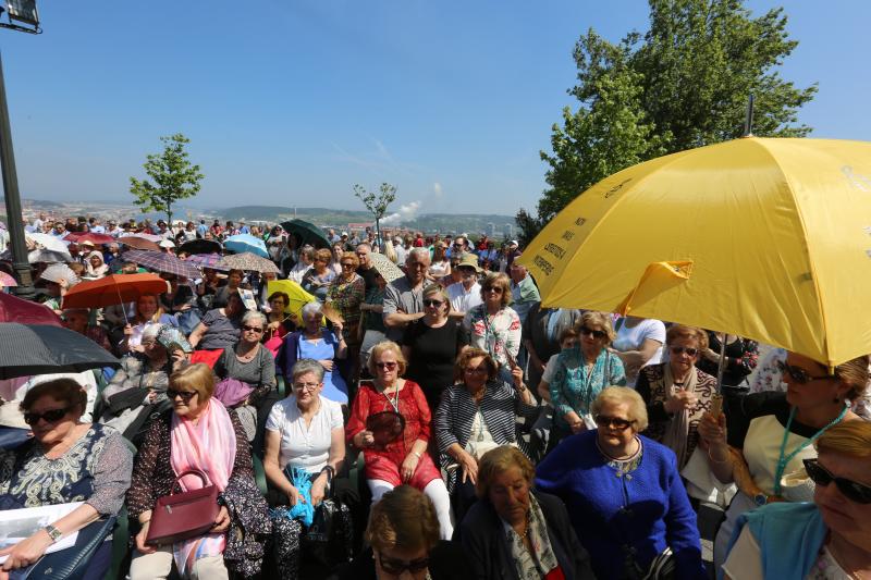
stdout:
[(121, 366), (97, 343), (63, 326), (2, 322), (0, 345), (0, 379)]

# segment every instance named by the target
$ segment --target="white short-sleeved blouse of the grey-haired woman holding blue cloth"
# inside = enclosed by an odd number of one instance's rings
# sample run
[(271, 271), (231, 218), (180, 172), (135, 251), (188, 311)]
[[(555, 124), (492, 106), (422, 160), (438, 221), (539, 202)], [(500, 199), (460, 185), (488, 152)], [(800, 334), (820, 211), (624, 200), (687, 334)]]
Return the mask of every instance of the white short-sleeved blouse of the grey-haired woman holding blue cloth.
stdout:
[(306, 420), (296, 397), (279, 400), (269, 412), (266, 428), (281, 435), (279, 466), (287, 464), (302, 467), (309, 473), (317, 473), (327, 466), (330, 458), (333, 429), (344, 425), (342, 406), (339, 403), (319, 397), (320, 408), (306, 427)]

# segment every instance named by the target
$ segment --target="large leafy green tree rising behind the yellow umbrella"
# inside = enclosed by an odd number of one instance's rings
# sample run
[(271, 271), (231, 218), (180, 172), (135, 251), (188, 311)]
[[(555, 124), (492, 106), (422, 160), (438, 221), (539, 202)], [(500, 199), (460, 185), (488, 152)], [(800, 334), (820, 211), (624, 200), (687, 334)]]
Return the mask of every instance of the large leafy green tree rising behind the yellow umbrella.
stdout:
[(561, 209), (635, 163), (740, 137), (755, 95), (753, 134), (800, 137), (797, 112), (817, 86), (797, 88), (777, 66), (798, 45), (783, 9), (753, 17), (743, 0), (649, 0), (650, 29), (612, 44), (588, 30), (574, 59), (576, 111), (554, 124), (541, 152), (549, 187), (537, 215), (517, 214), (530, 240)]

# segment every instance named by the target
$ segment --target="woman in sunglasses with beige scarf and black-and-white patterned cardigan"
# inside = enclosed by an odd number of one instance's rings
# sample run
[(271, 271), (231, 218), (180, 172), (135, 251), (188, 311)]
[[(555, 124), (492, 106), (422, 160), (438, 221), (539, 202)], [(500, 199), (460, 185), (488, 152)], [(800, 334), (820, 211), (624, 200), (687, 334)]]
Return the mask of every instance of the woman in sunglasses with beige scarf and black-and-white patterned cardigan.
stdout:
[(716, 393), (716, 379), (696, 368), (706, 348), (704, 331), (674, 324), (665, 333), (668, 360), (641, 369), (635, 385), (647, 403), (650, 425), (645, 434), (675, 453), (678, 470), (699, 444), (699, 421)]

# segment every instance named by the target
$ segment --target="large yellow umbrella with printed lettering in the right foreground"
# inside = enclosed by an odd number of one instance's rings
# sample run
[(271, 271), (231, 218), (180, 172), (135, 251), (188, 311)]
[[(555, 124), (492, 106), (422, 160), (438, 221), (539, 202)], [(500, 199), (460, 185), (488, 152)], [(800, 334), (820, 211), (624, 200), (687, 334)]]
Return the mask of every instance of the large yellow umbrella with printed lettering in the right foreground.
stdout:
[(545, 306), (838, 365), (871, 353), (871, 143), (745, 137), (634, 165), (569, 203), (519, 261)]

